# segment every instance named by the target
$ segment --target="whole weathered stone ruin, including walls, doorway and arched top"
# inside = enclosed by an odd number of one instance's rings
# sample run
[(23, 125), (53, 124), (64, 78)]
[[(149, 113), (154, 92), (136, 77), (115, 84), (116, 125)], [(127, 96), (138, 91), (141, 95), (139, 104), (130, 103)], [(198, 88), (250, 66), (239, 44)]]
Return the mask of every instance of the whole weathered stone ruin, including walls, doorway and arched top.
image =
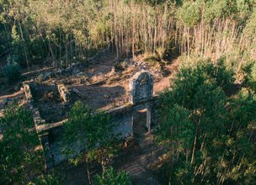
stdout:
[[(70, 93), (63, 84), (57, 86), (61, 98), (64, 102), (68, 102)], [(32, 89), (33, 90), (33, 89)], [(26, 98), (29, 102), (29, 107), (33, 113), (33, 119), (37, 132), (40, 135), (40, 140), (44, 147), (45, 161), (47, 169), (51, 169), (52, 166), (56, 166), (61, 161), (65, 161), (67, 157), (61, 153), (61, 133), (62, 124), (65, 124), (66, 120), (58, 123), (45, 124), (45, 120), (40, 118), (40, 111), (38, 108), (34, 108), (33, 97), (30, 91), (29, 83), (24, 82), (24, 91)], [(152, 129), (152, 124), (155, 118), (155, 100), (153, 94), (153, 77), (148, 71), (137, 72), (130, 82), (131, 98), (130, 103), (119, 107), (107, 110), (105, 113), (109, 114), (111, 121), (115, 124), (114, 131), (116, 134), (120, 134), (120, 138), (131, 138), (134, 136), (134, 115), (137, 111), (146, 108), (147, 109), (147, 127), (148, 132)], [(130, 142), (126, 140), (126, 142)], [(127, 144), (128, 145), (128, 144)], [(80, 151), (86, 148), (86, 142), (74, 143), (74, 150), (77, 151), (77, 155)]]

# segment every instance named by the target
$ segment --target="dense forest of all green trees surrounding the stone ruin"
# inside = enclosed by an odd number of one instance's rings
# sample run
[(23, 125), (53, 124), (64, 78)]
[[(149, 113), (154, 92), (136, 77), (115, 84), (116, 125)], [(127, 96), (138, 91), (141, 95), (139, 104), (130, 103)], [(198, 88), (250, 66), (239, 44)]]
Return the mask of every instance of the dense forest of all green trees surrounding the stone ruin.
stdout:
[[(178, 60), (157, 99), (154, 145), (171, 152), (159, 183), (255, 184), (255, 23), (255, 0), (0, 0), (0, 77), (12, 84), (21, 69), (87, 64), (104, 49), (116, 61)], [(81, 102), (63, 126), (63, 151), (73, 165), (83, 159), (90, 184), (132, 184), (109, 165), (120, 153), (117, 135), (105, 134), (112, 126)], [(45, 172), (42, 151), (30, 149), (40, 145), (31, 127), (31, 113), (16, 105), (0, 118), (0, 183), (62, 184), (58, 168)], [(74, 159), (71, 140), (85, 137), (88, 152)]]

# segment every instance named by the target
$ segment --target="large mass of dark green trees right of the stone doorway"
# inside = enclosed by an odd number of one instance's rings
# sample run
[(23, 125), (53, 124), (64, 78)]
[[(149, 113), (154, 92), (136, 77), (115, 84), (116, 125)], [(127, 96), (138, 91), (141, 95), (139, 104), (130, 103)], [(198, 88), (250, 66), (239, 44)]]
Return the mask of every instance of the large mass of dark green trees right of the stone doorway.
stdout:
[(163, 92), (157, 138), (172, 151), (159, 173), (164, 183), (254, 182), (256, 94), (232, 86), (223, 62), (200, 61), (181, 67)]

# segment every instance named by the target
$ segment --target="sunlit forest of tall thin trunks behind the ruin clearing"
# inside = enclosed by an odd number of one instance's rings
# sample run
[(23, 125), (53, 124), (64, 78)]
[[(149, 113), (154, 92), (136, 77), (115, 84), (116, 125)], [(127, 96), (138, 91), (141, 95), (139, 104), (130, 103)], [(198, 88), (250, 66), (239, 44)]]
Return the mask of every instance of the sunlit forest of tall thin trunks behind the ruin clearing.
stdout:
[(253, 0), (3, 0), (0, 57), (60, 67), (109, 45), (117, 58), (178, 50), (213, 60), (224, 55), (239, 71), (255, 61), (255, 8)]

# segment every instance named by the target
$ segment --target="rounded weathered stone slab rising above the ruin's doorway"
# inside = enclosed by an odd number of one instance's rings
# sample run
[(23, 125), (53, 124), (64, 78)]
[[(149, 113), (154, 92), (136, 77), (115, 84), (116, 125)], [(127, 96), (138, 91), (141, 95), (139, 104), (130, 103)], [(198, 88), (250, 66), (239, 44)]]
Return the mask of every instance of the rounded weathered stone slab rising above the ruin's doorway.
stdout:
[(130, 81), (130, 102), (140, 103), (152, 98), (154, 78), (149, 71), (139, 71)]

